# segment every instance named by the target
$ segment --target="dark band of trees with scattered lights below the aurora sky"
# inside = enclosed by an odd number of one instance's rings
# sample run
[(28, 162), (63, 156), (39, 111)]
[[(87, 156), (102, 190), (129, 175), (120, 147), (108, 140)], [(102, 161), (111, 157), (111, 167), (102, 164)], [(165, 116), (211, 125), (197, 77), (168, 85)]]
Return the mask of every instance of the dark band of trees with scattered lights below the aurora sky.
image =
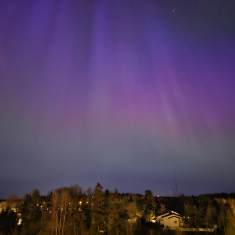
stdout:
[(86, 191), (76, 185), (56, 189), (46, 196), (39, 190), (26, 194), (16, 211), (9, 207), (0, 213), (0, 234), (186, 234), (151, 223), (151, 218), (173, 210), (182, 215), (188, 227), (216, 225), (216, 234), (234, 235), (234, 208), (234, 194), (154, 197), (150, 190), (141, 195), (104, 190), (99, 183)]

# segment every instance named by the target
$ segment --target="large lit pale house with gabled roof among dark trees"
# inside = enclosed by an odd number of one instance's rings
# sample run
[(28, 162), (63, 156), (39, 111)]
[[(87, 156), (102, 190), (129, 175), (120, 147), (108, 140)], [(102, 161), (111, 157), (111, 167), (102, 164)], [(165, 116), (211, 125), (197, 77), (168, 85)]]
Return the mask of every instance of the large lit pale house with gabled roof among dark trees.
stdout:
[(162, 225), (164, 229), (170, 230), (177, 230), (184, 225), (183, 217), (175, 211), (169, 211), (157, 216), (156, 221)]

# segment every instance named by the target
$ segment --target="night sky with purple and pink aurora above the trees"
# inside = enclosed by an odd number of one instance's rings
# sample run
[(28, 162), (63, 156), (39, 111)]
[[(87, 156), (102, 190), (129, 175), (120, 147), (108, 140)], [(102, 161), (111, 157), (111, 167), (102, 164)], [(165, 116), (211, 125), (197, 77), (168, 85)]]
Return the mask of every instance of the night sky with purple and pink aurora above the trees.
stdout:
[(235, 191), (235, 2), (1, 0), (0, 197), (101, 182)]

